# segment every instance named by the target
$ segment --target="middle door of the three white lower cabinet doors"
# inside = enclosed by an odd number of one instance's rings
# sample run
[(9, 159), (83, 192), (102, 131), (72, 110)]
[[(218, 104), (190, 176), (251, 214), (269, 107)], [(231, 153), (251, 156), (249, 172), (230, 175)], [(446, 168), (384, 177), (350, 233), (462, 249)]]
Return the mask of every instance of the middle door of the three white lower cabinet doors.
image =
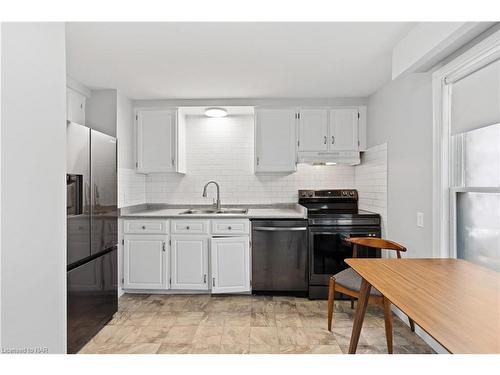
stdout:
[(172, 236), (172, 289), (208, 289), (208, 237)]

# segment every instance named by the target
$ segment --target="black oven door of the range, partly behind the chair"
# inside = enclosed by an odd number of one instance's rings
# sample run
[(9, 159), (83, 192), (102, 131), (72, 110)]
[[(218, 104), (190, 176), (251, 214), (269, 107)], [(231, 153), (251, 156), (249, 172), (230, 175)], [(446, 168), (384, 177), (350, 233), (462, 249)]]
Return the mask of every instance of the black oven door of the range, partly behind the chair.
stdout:
[[(348, 268), (349, 237), (380, 237), (379, 228), (309, 227), (309, 284), (328, 285), (331, 275)], [(360, 248), (358, 257), (380, 257), (380, 250)]]

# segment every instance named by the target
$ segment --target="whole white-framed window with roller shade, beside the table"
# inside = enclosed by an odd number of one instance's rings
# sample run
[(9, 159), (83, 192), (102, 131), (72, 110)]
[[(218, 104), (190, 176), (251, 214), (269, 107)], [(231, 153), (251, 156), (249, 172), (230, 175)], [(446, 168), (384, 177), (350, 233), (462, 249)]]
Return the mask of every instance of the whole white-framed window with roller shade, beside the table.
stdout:
[(500, 31), (433, 75), (434, 254), (500, 271)]

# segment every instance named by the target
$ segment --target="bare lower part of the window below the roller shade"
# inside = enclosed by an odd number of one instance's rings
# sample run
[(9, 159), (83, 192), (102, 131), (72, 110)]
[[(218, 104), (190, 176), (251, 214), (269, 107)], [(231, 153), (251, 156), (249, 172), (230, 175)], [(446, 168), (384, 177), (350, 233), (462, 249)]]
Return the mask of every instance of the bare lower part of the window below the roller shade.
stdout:
[(500, 124), (451, 144), (451, 255), (500, 271)]

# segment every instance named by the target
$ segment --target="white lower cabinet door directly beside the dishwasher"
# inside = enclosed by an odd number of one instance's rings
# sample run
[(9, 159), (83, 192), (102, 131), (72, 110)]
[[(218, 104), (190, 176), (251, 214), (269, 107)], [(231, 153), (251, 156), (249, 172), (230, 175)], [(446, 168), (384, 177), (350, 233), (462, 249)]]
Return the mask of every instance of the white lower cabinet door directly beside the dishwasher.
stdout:
[(248, 236), (212, 238), (212, 293), (250, 291)]

